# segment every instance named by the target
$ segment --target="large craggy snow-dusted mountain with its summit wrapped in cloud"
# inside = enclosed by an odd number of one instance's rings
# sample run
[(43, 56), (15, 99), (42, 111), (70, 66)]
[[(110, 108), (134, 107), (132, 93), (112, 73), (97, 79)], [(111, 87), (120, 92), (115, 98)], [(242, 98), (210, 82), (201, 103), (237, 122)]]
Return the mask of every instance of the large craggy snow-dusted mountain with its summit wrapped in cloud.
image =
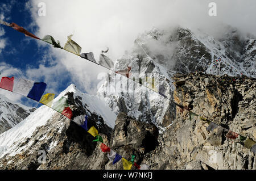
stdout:
[[(152, 28), (134, 43), (133, 52), (115, 61), (114, 69), (123, 70), (130, 66), (132, 79), (133, 75), (136, 79), (146, 79), (146, 76), (159, 79), (155, 83), (156, 88), (159, 85), (164, 87), (162, 93), (171, 99), (174, 90), (172, 76), (176, 73), (203, 71), (207, 74), (256, 77), (256, 39), (251, 35), (243, 37), (232, 28), (228, 28), (221, 39), (199, 30), (192, 32), (176, 28), (162, 31)], [(221, 58), (220, 65), (217, 58)], [(117, 91), (109, 89), (114, 77), (115, 83), (119, 82), (115, 86)], [(121, 84), (123, 86), (119, 86)], [(97, 96), (108, 102), (115, 113), (125, 112), (138, 120), (155, 123), (159, 128), (170, 125), (175, 117), (175, 105), (169, 100), (138, 83), (134, 85), (133, 81), (121, 75), (108, 75)]]

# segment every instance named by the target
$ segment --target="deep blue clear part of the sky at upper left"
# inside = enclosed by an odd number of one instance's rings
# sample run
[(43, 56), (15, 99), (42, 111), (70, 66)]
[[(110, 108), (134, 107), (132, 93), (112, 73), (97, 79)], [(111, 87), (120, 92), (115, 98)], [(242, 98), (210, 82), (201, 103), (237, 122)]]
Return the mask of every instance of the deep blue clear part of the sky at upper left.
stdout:
[[(38, 27), (35, 24), (31, 24), (33, 19), (31, 17), (31, 12), (26, 7), (27, 1), (8, 1), (2, 0), (0, 2), (0, 6), (5, 5), (6, 9), (2, 9), (2, 12), (5, 16), (7, 22), (15, 22), (19, 24), (19, 26), (24, 27), (26, 30), (34, 33), (37, 31)], [(51, 69), (54, 65), (54, 61), (56, 61), (55, 56), (51, 56), (48, 52), (51, 49), (49, 44), (45, 44), (43, 46), (39, 46), (39, 40), (32, 39), (30, 37), (26, 37), (23, 33), (20, 33), (13, 28), (2, 26), (5, 34), (0, 37), (5, 39), (5, 48), (1, 50), (0, 53), (0, 63), (5, 62), (6, 66), (10, 69), (18, 69), (20, 70), (19, 73), (14, 71), (13, 73), (9, 73), (9, 77), (14, 76), (15, 78), (23, 77), (23, 78), (30, 78), (36, 82), (45, 82), (44, 73), (41, 73), (41, 76), (33, 78), (31, 76), (27, 76), (28, 69), (39, 69), (39, 65), (44, 65), (46, 68)], [(45, 56), (50, 56), (51, 61), (44, 60)], [(57, 81), (59, 82), (56, 86), (56, 89), (49, 89), (51, 86), (51, 82), (46, 82), (48, 85), (48, 90), (55, 94), (59, 94), (65, 88), (67, 88), (72, 82), (72, 79), (69, 71), (65, 71), (65, 67), (62, 67), (63, 73), (61, 76), (56, 77)], [(1, 76), (2, 77), (2, 76)], [(46, 90), (47, 91), (47, 90)], [(14, 93), (4, 91), (5, 95), (9, 94), (9, 98), (13, 96)], [(33, 100), (28, 100), (25, 97), (21, 97), (20, 100), (23, 104), (31, 107), (38, 107), (40, 106), (39, 103), (34, 102)]]

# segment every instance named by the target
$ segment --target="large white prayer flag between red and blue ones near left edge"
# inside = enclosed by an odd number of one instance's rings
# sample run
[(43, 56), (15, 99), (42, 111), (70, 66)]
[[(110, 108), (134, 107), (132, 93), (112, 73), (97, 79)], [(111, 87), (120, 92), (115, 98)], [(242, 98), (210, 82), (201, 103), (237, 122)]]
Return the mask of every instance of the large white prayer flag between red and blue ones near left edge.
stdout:
[(27, 96), (33, 86), (34, 81), (19, 78), (18, 82), (14, 82), (13, 92)]

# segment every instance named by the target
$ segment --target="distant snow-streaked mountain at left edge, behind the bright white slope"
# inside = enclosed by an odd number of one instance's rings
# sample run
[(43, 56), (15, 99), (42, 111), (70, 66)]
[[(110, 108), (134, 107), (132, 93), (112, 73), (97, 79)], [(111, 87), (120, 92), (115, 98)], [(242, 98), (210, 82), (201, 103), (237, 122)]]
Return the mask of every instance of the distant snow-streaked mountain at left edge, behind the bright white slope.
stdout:
[(35, 110), (36, 108), (16, 104), (0, 94), (0, 134), (13, 128)]

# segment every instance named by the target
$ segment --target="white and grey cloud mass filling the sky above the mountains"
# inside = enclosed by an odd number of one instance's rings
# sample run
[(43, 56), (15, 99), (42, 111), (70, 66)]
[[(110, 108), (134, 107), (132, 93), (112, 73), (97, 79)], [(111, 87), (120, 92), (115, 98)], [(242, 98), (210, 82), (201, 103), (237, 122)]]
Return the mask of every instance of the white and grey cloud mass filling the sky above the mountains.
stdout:
[[(52, 35), (64, 45), (67, 36), (73, 33), (73, 40), (81, 45), (82, 52), (92, 51), (96, 59), (106, 47), (109, 47), (110, 58), (121, 57), (125, 50), (131, 49), (139, 33), (153, 26), (167, 29), (179, 25), (219, 36), (228, 24), (256, 35), (254, 0), (45, 0), (46, 16), (38, 15), (39, 2), (42, 1), (30, 1), (26, 5), (33, 24), (38, 26), (35, 34), (39, 37)], [(208, 15), (210, 2), (216, 2), (217, 16)], [(41, 42), (39, 45), (44, 46)], [(90, 94), (96, 93), (100, 81), (97, 75), (105, 69), (56, 48), (52, 54), (57, 60), (53, 70), (64, 65), (76, 85)], [(38, 70), (42, 69), (44, 66)]]

